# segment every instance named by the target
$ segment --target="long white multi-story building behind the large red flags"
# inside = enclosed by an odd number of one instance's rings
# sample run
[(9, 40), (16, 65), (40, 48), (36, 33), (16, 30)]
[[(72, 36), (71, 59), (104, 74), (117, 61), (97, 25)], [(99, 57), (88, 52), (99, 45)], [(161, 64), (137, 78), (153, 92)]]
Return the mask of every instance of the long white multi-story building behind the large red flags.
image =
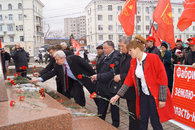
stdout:
[[(184, 32), (180, 32), (177, 28), (177, 22), (184, 8), (182, 1), (178, 1), (171, 1), (174, 35), (175, 38), (181, 38), (186, 41), (187, 38), (195, 36), (195, 23)], [(148, 36), (157, 2), (158, 0), (137, 1), (134, 35), (140, 34), (145, 38)], [(124, 0), (92, 0), (86, 6), (86, 39), (91, 52), (95, 52), (96, 46), (106, 40), (112, 40), (115, 43), (115, 47), (118, 48), (118, 40), (125, 35), (118, 20), (124, 4)], [(156, 24), (154, 25), (157, 26)]]

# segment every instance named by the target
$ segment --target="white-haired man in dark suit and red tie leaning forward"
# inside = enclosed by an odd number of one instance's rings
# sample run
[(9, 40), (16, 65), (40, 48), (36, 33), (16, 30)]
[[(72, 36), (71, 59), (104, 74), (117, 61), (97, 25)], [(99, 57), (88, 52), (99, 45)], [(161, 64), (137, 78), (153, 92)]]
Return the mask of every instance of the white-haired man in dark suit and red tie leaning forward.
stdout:
[(83, 87), (85, 86), (90, 93), (95, 91), (95, 85), (90, 78), (79, 78), (78, 75), (91, 76), (95, 74), (92, 67), (80, 56), (72, 55), (66, 57), (61, 50), (54, 54), (56, 66), (54, 70), (42, 75), (40, 78), (33, 79), (32, 82), (44, 82), (57, 75), (60, 85), (57, 91), (70, 98), (74, 97), (76, 103), (85, 106), (85, 96)]

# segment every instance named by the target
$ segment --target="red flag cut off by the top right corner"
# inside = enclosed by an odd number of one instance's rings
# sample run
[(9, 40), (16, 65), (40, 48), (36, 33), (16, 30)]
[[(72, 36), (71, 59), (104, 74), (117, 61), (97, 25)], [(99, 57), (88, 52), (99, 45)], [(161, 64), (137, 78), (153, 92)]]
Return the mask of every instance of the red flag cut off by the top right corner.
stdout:
[(185, 0), (183, 3), (184, 11), (181, 14), (181, 17), (179, 18), (179, 21), (177, 23), (177, 27), (180, 31), (184, 31), (186, 28), (188, 28), (190, 25), (192, 25), (192, 22), (195, 21), (195, 1), (194, 0)]

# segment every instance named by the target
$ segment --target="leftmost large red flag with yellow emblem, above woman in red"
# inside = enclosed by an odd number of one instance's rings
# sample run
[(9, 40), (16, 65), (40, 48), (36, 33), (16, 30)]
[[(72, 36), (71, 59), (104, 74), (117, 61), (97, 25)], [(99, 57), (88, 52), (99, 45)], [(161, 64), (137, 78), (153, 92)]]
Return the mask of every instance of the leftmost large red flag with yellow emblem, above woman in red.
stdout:
[(127, 0), (118, 17), (127, 36), (133, 35), (134, 32), (135, 14), (137, 12), (136, 1), (137, 0)]

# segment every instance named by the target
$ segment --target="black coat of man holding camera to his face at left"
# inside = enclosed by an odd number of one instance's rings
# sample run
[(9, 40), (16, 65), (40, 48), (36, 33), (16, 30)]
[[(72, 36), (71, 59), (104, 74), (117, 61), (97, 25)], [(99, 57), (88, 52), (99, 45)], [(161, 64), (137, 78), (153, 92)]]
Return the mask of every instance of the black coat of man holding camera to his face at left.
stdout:
[(29, 54), (22, 48), (19, 51), (14, 50), (11, 57), (14, 60), (16, 71), (19, 71), (19, 67), (28, 67)]

